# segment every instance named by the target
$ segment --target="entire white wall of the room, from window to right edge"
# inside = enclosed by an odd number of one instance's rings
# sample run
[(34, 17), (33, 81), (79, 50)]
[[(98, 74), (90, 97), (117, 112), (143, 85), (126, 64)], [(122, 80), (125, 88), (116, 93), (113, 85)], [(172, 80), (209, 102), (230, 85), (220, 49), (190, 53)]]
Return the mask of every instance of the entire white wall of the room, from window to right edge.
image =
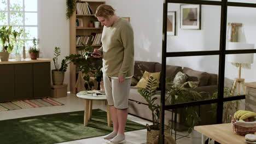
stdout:
[[(61, 47), (61, 58), (69, 54), (69, 21), (66, 20), (66, 1), (38, 0), (39, 38), (43, 56), (53, 58), (55, 46)], [(240, 0), (242, 1), (242, 0)], [(135, 60), (161, 62), (162, 3), (155, 0), (106, 0), (121, 17), (130, 17), (135, 34)], [(201, 51), (219, 49), (220, 7), (202, 5), (201, 30), (179, 28), (179, 4), (171, 4), (168, 10), (177, 11), (177, 35), (167, 36), (167, 51)], [(240, 37), (246, 43), (256, 43), (256, 9), (232, 9), (228, 22), (242, 22), (245, 33)], [(256, 57), (251, 70), (242, 70), (242, 77), (255, 81)], [(167, 58), (167, 64), (181, 65), (196, 70), (218, 73), (218, 56)], [(53, 63), (52, 63), (52, 68)], [(226, 77), (237, 77), (237, 69), (226, 63)], [(69, 81), (69, 69), (65, 82)]]

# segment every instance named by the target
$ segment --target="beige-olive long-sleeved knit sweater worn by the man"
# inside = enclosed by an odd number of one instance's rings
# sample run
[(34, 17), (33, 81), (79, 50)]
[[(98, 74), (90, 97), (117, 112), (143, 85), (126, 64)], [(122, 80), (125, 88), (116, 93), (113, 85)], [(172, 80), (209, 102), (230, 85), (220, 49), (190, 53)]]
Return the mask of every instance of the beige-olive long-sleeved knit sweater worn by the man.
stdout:
[(119, 18), (102, 32), (103, 74), (110, 77), (129, 77), (134, 70), (133, 30), (130, 22)]

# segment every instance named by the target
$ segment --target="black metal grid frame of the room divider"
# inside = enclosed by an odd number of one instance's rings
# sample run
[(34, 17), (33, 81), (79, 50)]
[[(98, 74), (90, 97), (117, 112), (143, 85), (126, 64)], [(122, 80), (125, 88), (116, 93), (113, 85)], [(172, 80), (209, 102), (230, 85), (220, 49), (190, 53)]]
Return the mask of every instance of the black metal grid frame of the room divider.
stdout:
[[(168, 3), (182, 3), (182, 4), (203, 4), (203, 5), (216, 5), (221, 7), (220, 16), (220, 45), (219, 50), (216, 51), (189, 51), (189, 52), (166, 52), (166, 35), (167, 35), (167, 6)], [(188, 106), (199, 106), (205, 104), (217, 103), (217, 123), (222, 123), (223, 118), (223, 103), (226, 101), (245, 99), (245, 95), (238, 95), (235, 97), (224, 98), (224, 74), (225, 74), (225, 56), (228, 54), (241, 54), (241, 53), (256, 53), (255, 49), (252, 50), (226, 50), (226, 22), (227, 22), (227, 9), (228, 7), (251, 7), (256, 8), (253, 3), (238, 3), (222, 1), (200, 1), (200, 0), (164, 0), (163, 10), (163, 23), (162, 23), (162, 73), (161, 73), (161, 111), (160, 111), (160, 134), (159, 143), (164, 143), (164, 119), (165, 110), (172, 110)], [(165, 77), (166, 77), (166, 58), (167, 57), (185, 57), (185, 56), (219, 56), (219, 70), (218, 70), (218, 98), (201, 101), (191, 101), (188, 103), (165, 105)]]

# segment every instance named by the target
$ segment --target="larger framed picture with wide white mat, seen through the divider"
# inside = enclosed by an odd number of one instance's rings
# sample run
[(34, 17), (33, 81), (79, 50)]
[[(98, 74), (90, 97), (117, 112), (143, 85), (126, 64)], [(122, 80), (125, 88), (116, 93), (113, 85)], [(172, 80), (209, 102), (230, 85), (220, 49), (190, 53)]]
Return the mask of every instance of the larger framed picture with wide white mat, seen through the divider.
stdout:
[(201, 29), (201, 5), (181, 5), (181, 29)]

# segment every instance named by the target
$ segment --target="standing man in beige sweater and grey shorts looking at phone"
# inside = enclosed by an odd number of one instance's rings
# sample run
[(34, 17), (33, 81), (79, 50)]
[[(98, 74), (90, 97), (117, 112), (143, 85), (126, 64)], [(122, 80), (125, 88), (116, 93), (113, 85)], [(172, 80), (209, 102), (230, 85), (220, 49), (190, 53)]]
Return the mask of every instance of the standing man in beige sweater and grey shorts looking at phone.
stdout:
[(108, 143), (124, 143), (131, 77), (134, 70), (134, 43), (130, 22), (118, 17), (114, 12), (115, 10), (106, 4), (100, 5), (96, 10), (95, 16), (104, 27), (102, 47), (95, 49), (94, 53), (102, 56), (104, 88), (114, 127), (113, 132), (103, 139)]

